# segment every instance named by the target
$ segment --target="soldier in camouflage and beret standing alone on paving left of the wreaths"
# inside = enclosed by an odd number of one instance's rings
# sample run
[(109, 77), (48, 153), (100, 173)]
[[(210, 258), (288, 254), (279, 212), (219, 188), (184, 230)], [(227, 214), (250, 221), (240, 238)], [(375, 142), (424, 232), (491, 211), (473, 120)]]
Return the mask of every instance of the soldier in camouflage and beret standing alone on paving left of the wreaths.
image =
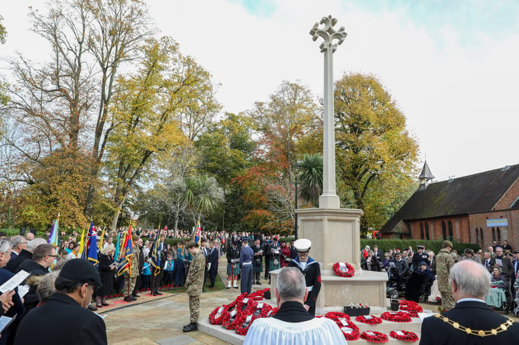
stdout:
[(197, 331), (197, 322), (200, 309), (200, 294), (204, 287), (204, 270), (206, 259), (199, 245), (193, 241), (186, 244), (186, 249), (193, 255), (193, 261), (189, 265), (186, 277), (186, 293), (189, 296), (190, 324), (184, 326), (184, 332)]

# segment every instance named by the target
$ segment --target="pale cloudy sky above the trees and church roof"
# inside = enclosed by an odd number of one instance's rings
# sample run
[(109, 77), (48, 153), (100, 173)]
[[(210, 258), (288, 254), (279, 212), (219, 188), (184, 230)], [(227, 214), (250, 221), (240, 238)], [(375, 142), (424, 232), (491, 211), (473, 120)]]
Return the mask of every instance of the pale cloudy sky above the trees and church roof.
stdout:
[[(29, 6), (1, 0), (8, 30), (0, 56), (39, 61), (48, 46), (28, 31)], [(213, 75), (224, 111), (266, 101), (282, 81), (323, 93), (313, 24), (331, 14), (348, 36), (333, 55), (334, 80), (375, 75), (407, 118), (435, 181), (519, 164), (518, 0), (148, 0), (161, 35)], [(0, 73), (2, 70), (0, 62)], [(418, 171), (420, 172), (420, 171)], [(417, 175), (418, 176), (418, 175)]]

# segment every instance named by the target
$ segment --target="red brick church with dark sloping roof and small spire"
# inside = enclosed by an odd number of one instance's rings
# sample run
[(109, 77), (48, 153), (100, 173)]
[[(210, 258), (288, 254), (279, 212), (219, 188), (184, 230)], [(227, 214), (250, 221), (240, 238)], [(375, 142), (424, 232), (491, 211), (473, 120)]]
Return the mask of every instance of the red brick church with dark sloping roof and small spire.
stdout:
[(424, 164), (418, 190), (382, 227), (382, 238), (447, 239), (482, 248), (505, 239), (519, 249), (519, 164), (433, 182)]

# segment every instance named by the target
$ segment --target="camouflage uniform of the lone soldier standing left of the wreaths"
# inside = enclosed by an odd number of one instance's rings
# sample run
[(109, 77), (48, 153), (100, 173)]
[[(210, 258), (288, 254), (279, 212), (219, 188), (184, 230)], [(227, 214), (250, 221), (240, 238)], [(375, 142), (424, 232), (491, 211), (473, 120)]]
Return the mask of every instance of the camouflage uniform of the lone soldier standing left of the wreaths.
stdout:
[(188, 277), (186, 278), (186, 293), (189, 296), (189, 315), (192, 323), (198, 322), (200, 294), (204, 287), (205, 268), (206, 259), (202, 250), (199, 250), (189, 265)]

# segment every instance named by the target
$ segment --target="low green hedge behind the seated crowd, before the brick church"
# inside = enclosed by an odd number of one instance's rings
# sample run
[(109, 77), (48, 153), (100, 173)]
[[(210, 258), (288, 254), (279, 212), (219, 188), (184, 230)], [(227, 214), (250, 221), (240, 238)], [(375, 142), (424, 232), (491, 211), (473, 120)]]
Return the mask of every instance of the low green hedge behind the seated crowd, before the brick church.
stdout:
[[(435, 241), (427, 241), (424, 239), (360, 239), (360, 248), (364, 248), (365, 246), (369, 246), (373, 249), (375, 244), (378, 246), (378, 250), (382, 253), (386, 252), (389, 249), (400, 248), (404, 250), (404, 248), (408, 248), (409, 246), (413, 247), (413, 250), (416, 251), (418, 245), (425, 246), (425, 249), (431, 249), (435, 254), (438, 254), (440, 249), (442, 248), (443, 240), (435, 240)], [(465, 248), (471, 248), (474, 252), (477, 252), (481, 249), (478, 244), (473, 243), (461, 243), (451, 240), (453, 249), (458, 250), (458, 254), (461, 255)]]

